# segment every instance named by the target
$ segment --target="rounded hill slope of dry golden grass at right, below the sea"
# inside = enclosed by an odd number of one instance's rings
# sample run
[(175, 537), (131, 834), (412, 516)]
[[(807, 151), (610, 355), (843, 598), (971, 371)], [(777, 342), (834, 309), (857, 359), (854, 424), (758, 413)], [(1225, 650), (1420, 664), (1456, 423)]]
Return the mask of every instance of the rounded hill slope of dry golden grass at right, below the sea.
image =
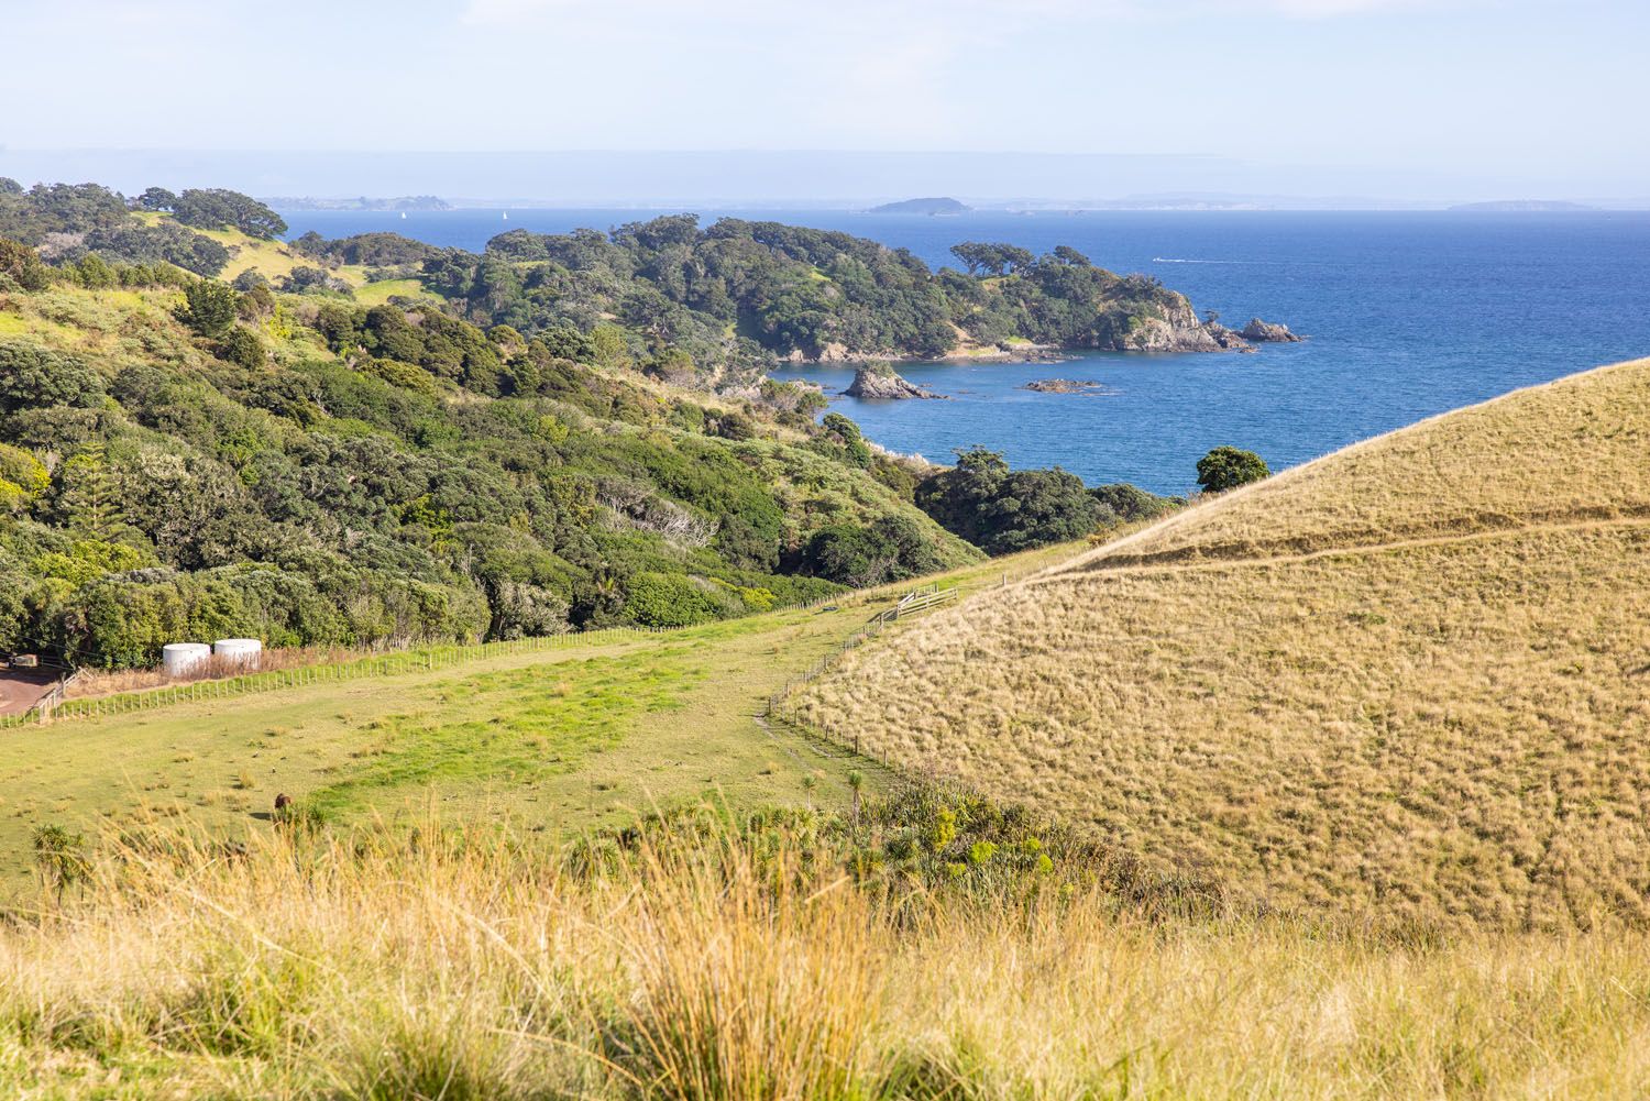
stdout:
[(1381, 924), (1650, 921), (1650, 360), (1366, 441), (855, 652), (799, 718)]

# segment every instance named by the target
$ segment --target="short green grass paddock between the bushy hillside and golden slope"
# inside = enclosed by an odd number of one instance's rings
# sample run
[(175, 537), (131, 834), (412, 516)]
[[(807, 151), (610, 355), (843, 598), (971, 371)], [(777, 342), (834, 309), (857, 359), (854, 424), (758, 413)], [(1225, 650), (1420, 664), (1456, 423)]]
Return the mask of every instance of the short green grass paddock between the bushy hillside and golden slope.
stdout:
[[(977, 589), (1079, 548), (945, 574)], [(30, 834), (198, 822), (266, 829), (277, 792), (343, 822), (422, 815), (566, 835), (653, 804), (846, 799), (879, 769), (785, 728), (767, 695), (906, 586), (667, 636), (323, 682), (0, 733), (0, 898), (31, 890)], [(810, 792), (804, 777), (813, 776)]]

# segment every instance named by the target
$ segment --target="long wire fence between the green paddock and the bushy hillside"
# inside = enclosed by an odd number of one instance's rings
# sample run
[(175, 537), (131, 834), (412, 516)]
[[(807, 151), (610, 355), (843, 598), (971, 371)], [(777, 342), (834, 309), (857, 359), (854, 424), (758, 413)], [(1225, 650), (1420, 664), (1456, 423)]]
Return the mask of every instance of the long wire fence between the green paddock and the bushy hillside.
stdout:
[[(832, 593), (808, 601), (774, 607), (772, 612), (808, 611), (825, 604), (838, 602), (851, 594)], [(66, 677), (48, 692), (35, 706), (23, 715), (0, 716), (0, 730), (26, 725), (53, 723), (69, 718), (102, 718), (109, 715), (130, 715), (177, 703), (193, 703), (198, 700), (228, 700), (254, 692), (272, 692), (277, 688), (299, 688), (305, 685), (361, 680), (368, 677), (396, 677), (412, 672), (436, 672), (452, 669), (469, 662), (492, 657), (513, 657), (523, 654), (541, 654), (549, 650), (602, 645), (644, 639), (655, 634), (673, 634), (701, 627), (705, 624), (683, 624), (675, 627), (599, 627), (596, 631), (569, 631), (564, 634), (541, 636), (535, 639), (512, 639), (500, 642), (475, 642), (469, 645), (431, 645), (389, 654), (368, 654), (338, 662), (315, 665), (297, 665), (292, 669), (274, 669), (264, 672), (246, 672), (234, 677), (211, 680), (195, 680), (160, 688), (142, 688), (137, 692), (117, 692), (102, 697), (81, 700), (66, 698), (66, 690), (73, 677)]]

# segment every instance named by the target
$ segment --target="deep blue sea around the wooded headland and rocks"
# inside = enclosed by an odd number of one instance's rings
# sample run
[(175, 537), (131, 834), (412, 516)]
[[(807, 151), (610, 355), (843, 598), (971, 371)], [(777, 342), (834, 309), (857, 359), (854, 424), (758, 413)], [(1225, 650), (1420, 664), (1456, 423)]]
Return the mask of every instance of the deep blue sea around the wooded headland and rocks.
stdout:
[[(1147, 272), (1241, 327), (1280, 320), (1310, 340), (1259, 355), (1092, 353), (1059, 363), (909, 363), (949, 401), (856, 401), (851, 370), (810, 366), (833, 408), (883, 446), (945, 461), (985, 444), (1015, 465), (1061, 465), (1089, 484), (1185, 492), (1209, 447), (1272, 469), (1455, 406), (1650, 355), (1650, 213), (970, 213), (701, 211), (842, 229), (909, 248), (931, 266), (959, 241), (1033, 251), (1069, 244)], [(503, 229), (607, 229), (617, 210), (284, 211), (292, 234), (391, 229), (480, 249)], [(1035, 393), (1072, 378), (1092, 393)]]

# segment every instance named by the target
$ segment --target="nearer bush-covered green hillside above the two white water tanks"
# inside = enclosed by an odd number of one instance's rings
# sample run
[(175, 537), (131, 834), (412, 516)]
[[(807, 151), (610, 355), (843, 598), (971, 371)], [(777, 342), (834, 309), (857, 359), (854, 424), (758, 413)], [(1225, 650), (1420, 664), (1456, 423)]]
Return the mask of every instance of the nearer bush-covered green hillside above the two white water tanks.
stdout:
[[(53, 315), (107, 325), (99, 287), (130, 269), (81, 267)], [(28, 297), (0, 310), (36, 317)], [(0, 337), (0, 652), (698, 622), (974, 553), (909, 503), (911, 472), (901, 495), (823, 429), (779, 442), (774, 418), (813, 408), (794, 386), (711, 408), (596, 366), (599, 342), (267, 286), (155, 304), (153, 353)], [(874, 532), (896, 565), (810, 558), (825, 527)]]

